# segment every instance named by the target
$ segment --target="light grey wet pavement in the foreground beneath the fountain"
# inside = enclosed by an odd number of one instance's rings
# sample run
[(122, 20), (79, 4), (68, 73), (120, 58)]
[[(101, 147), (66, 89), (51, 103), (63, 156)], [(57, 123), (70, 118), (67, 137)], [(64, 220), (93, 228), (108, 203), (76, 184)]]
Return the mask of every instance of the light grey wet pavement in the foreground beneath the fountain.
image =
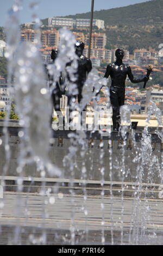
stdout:
[[(96, 189), (96, 188), (95, 188)], [(4, 192), (1, 245), (162, 245), (163, 202), (56, 192)]]

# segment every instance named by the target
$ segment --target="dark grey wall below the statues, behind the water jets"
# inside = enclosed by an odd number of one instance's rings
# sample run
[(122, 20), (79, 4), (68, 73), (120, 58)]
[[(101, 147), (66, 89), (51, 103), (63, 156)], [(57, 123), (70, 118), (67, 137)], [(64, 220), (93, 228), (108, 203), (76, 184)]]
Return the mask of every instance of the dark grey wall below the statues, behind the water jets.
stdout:
[[(4, 135), (0, 127), (0, 175), (4, 175), (5, 149)], [(9, 127), (9, 145), (11, 158), (9, 168), (5, 175), (17, 176), (17, 160), (20, 155), (21, 140), (17, 136), (20, 129), (15, 123)], [(131, 134), (128, 133), (126, 143), (116, 133), (111, 137), (101, 138), (98, 132), (91, 135), (87, 133), (85, 154), (81, 156), (81, 146), (78, 144), (78, 151), (73, 159), (68, 157), (68, 161), (74, 163), (71, 171), (70, 167), (65, 167), (63, 160), (68, 155), (68, 148), (71, 146), (70, 139), (67, 137), (69, 131), (56, 131), (53, 134), (54, 143), (49, 145), (49, 159), (62, 171), (61, 178), (102, 180), (105, 181), (141, 181), (147, 183), (161, 184), (161, 161), (162, 144), (158, 136), (151, 133), (152, 145), (141, 144), (141, 130), (136, 133), (135, 145)], [(152, 132), (152, 130), (151, 130)], [(92, 137), (91, 137), (92, 136)], [(110, 144), (109, 144), (110, 143)], [(123, 144), (124, 143), (124, 144)], [(140, 155), (139, 155), (140, 154)], [(84, 166), (86, 172), (84, 172)], [(83, 170), (83, 172), (82, 172)], [(23, 176), (33, 176), (39, 178), (40, 172), (36, 169), (36, 164), (26, 164)], [(46, 175), (49, 178), (49, 175)], [(55, 177), (53, 177), (55, 178)]]

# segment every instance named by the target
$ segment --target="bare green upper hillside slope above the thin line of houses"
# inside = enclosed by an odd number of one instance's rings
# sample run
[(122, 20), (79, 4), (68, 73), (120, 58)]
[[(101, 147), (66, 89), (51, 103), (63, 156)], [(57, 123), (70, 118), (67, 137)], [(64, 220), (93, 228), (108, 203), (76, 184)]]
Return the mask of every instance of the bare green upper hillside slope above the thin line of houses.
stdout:
[[(90, 13), (69, 15), (67, 17), (89, 19)], [(105, 25), (163, 25), (163, 0), (152, 0), (144, 3), (128, 5), (127, 7), (94, 11), (94, 19), (105, 21)]]

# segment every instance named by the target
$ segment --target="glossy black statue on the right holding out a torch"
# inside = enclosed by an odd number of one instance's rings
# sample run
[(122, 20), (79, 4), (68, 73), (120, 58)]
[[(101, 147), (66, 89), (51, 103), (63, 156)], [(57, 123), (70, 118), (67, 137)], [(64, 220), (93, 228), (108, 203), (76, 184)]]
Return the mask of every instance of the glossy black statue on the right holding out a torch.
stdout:
[(124, 51), (122, 49), (117, 49), (115, 55), (116, 62), (111, 63), (106, 67), (104, 77), (111, 77), (110, 101), (112, 106), (112, 123), (113, 130), (118, 131), (121, 123), (120, 107), (124, 105), (125, 81), (127, 75), (132, 83), (147, 82), (149, 78), (146, 76), (142, 79), (134, 78), (130, 66), (122, 62), (124, 57)]

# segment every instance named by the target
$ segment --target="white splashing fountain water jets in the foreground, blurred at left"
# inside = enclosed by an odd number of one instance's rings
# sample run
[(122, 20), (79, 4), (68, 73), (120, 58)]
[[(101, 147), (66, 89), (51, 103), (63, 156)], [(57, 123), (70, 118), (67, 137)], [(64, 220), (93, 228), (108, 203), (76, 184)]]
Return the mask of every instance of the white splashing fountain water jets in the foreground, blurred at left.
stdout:
[[(110, 243), (114, 245), (117, 243), (125, 244), (135, 244), (139, 243), (148, 243), (151, 239), (151, 233), (153, 236), (157, 234), (158, 230), (156, 225), (154, 228), (149, 229), (149, 225), (153, 225), (153, 218), (151, 215), (151, 204), (148, 200), (148, 186), (147, 184), (152, 184), (154, 180), (154, 175), (156, 171), (159, 171), (159, 175), (161, 176), (161, 184), (162, 184), (162, 153), (161, 153), (161, 164), (159, 163), (159, 159), (156, 155), (153, 154), (153, 145), (152, 145), (152, 135), (149, 135), (149, 127), (146, 126), (143, 132), (141, 133), (142, 137), (140, 140), (137, 139), (138, 133), (133, 129), (129, 129), (128, 123), (130, 123), (130, 112), (127, 106), (123, 106), (121, 109), (121, 130), (120, 134), (112, 135), (112, 133), (108, 128), (106, 128), (106, 133), (103, 131), (102, 126), (99, 128), (98, 124), (98, 112), (100, 111), (100, 107), (98, 106), (98, 99), (95, 97), (98, 89), (101, 88), (102, 84), (106, 86), (107, 81), (102, 79), (98, 75), (98, 71), (96, 69), (92, 69), (87, 80), (83, 87), (83, 100), (80, 104), (76, 102), (72, 102), (70, 106), (72, 109), (78, 110), (79, 120), (81, 119), (80, 115), (82, 114), (82, 109), (86, 105), (87, 102), (93, 100), (94, 108), (95, 108), (95, 119), (96, 125), (92, 127), (92, 130), (88, 133), (86, 130), (82, 129), (83, 125), (81, 125), (80, 121), (78, 122), (78, 127), (74, 130), (69, 131), (67, 137), (65, 138), (66, 131), (62, 131), (60, 135), (65, 136), (63, 139), (63, 144), (66, 144), (66, 149), (59, 148), (60, 151), (64, 151), (64, 170), (60, 170), (60, 167), (57, 167), (57, 164), (52, 164), (51, 160), (49, 160), (49, 147), (50, 144), (53, 144), (51, 147), (53, 148), (56, 144), (52, 139), (51, 129), (49, 127), (49, 115), (51, 114), (51, 101), (50, 94), (51, 89), (55, 88), (55, 82), (58, 80), (60, 76), (60, 72), (65, 74), (65, 83), (64, 87), (66, 91), (70, 95), (76, 95), (76, 76), (74, 74), (77, 71), (77, 56), (74, 53), (74, 36), (70, 31), (66, 29), (60, 30), (61, 40), (59, 46), (59, 55), (55, 60), (54, 64), (48, 66), (49, 72), (54, 74), (54, 83), (50, 90), (48, 90), (45, 73), (43, 69), (43, 63), (39, 54), (39, 45), (40, 45), (40, 20), (37, 15), (33, 13), (33, 17), (36, 22), (36, 40), (35, 44), (30, 44), (29, 42), (20, 44), (18, 36), (15, 40), (15, 34), (19, 34), (18, 28), (18, 20), (17, 20), (17, 11), (21, 9), (21, 1), (15, 1), (16, 5), (12, 8), (10, 13), (10, 18), (14, 17), (14, 20), (10, 19), (9, 32), (8, 35), (8, 46), (12, 46), (11, 52), (7, 52), (7, 57), (9, 58), (9, 77), (11, 80), (11, 74), (14, 72), (16, 81), (14, 86), (14, 99), (16, 102), (17, 111), (20, 114), (21, 120), (20, 124), (24, 126), (18, 132), (18, 139), (21, 141), (20, 143), (20, 157), (18, 157), (18, 167), (17, 167), (17, 192), (19, 193), (17, 196), (17, 222), (15, 229), (15, 237), (14, 243), (20, 244), (21, 239), (21, 216), (23, 216), (23, 196), (21, 196), (21, 192), (23, 192), (23, 175), (26, 174), (28, 177), (28, 173), (25, 172), (26, 164), (31, 162), (35, 162), (37, 166), (37, 172), (39, 172), (41, 176), (41, 190), (39, 194), (37, 194), (37, 198), (39, 196), (42, 197), (41, 208), (42, 210), (42, 220), (43, 224), (41, 225), (41, 233), (42, 235), (39, 238), (36, 238), (34, 233), (30, 231), (28, 242), (33, 244), (46, 244), (48, 243), (47, 233), (46, 233), (46, 222), (51, 221), (52, 228), (52, 216), (55, 216), (55, 212), (57, 211), (57, 207), (49, 211), (49, 206), (57, 203), (57, 198), (59, 201), (59, 205), (62, 203), (61, 196), (57, 197), (57, 193), (59, 192), (60, 187), (65, 188), (65, 185), (62, 186), (54, 186), (53, 189), (51, 187), (46, 187), (46, 177), (50, 176), (51, 180), (54, 177), (57, 177), (61, 174), (61, 177), (64, 178), (64, 175), (68, 176), (68, 192), (71, 194), (70, 197), (70, 222), (68, 222), (67, 234), (61, 235), (61, 229), (56, 231), (56, 228), (60, 228), (59, 217), (62, 212), (58, 213), (58, 226), (55, 227), (55, 240), (53, 243), (56, 243), (57, 237), (61, 236), (63, 242), (71, 243), (72, 245), (76, 245), (79, 243), (80, 239), (77, 238), (77, 235), (81, 237), (86, 237), (85, 242), (88, 243), (89, 234), (93, 234), (94, 239), (95, 233), (89, 229), (90, 220), (96, 217), (98, 214), (98, 208), (100, 209), (100, 217), (99, 222), (101, 224), (100, 234), (101, 243), (105, 245)], [(34, 7), (34, 3), (31, 5), (32, 9)], [(12, 23), (12, 24), (11, 24)], [(17, 40), (18, 39), (18, 40)], [(67, 63), (71, 61), (70, 66), (66, 66)], [(67, 79), (67, 74), (71, 78)], [(13, 92), (12, 92), (13, 93)], [(154, 114), (158, 119), (159, 125), (162, 125), (161, 121), (161, 113), (156, 106), (151, 105), (149, 108), (147, 122)], [(109, 92), (108, 92), (108, 106), (110, 107), (109, 100)], [(41, 114), (40, 114), (41, 113)], [(100, 117), (101, 118), (101, 117)], [(72, 122), (73, 123), (73, 122)], [(124, 123), (124, 124), (123, 124)], [(6, 123), (8, 124), (8, 123)], [(147, 123), (148, 124), (148, 123)], [(85, 126), (85, 125), (84, 125)], [(7, 127), (7, 125), (6, 125)], [(98, 135), (97, 135), (98, 131)], [(108, 132), (108, 133), (107, 133)], [(6, 136), (8, 136), (7, 131), (5, 131)], [(57, 137), (57, 131), (54, 132), (54, 136)], [(162, 130), (158, 129), (156, 134), (161, 138), (162, 142)], [(97, 135), (97, 137), (96, 137)], [(107, 135), (107, 136), (106, 136)], [(130, 139), (131, 144), (128, 147), (128, 139)], [(89, 141), (89, 143), (88, 143)], [(117, 143), (117, 141), (122, 143)], [(52, 143), (53, 142), (53, 143)], [(107, 143), (106, 143), (107, 142)], [(3, 143), (2, 143), (3, 144)], [(9, 142), (8, 139), (4, 142), (5, 149), (7, 149), (7, 158), (8, 164), (5, 165), (3, 174), (7, 173), (7, 169), (10, 162), (9, 155)], [(60, 143), (58, 143), (60, 144)], [(120, 145), (121, 144), (121, 145)], [(107, 146), (106, 146), (107, 145)], [(121, 147), (120, 147), (121, 146)], [(64, 147), (64, 146), (63, 146)], [(105, 147), (107, 147), (105, 149)], [(129, 149), (128, 149), (129, 148)], [(56, 150), (56, 151), (57, 151)], [(132, 150), (132, 151), (128, 151)], [(56, 154), (55, 151), (55, 154)], [(130, 154), (129, 154), (130, 152)], [(53, 157), (55, 157), (55, 154)], [(159, 153), (160, 154), (160, 153)], [(97, 156), (98, 155), (98, 156)], [(89, 156), (89, 158), (87, 157)], [(129, 159), (130, 156), (130, 159)], [(60, 158), (61, 159), (61, 158)], [(106, 160), (105, 160), (106, 159)], [(131, 162), (131, 164), (129, 163)], [(90, 165), (88, 164), (90, 163)], [(59, 164), (58, 164), (59, 165)], [(96, 181), (99, 181), (100, 187), (95, 187), (94, 191), (98, 188), (101, 192), (100, 195), (100, 204), (95, 207), (95, 216), (90, 216), (90, 213), (93, 214), (92, 209), (89, 207), (89, 201), (94, 198), (89, 198), (89, 182), (90, 177), (92, 176), (95, 179), (93, 174), (98, 175)], [(148, 170), (148, 172), (147, 172)], [(74, 188), (75, 182), (77, 180), (77, 171), (80, 172), (78, 179), (82, 181), (82, 200), (80, 200), (80, 204), (77, 204), (77, 194), (76, 188)], [(90, 172), (91, 171), (91, 172)], [(63, 174), (64, 173), (64, 174)], [(148, 175), (147, 175), (148, 174)], [(92, 179), (93, 179), (92, 178)], [(131, 203), (133, 204), (133, 209), (129, 212), (126, 209), (126, 192), (127, 192), (127, 182), (128, 179), (132, 182), (133, 186), (133, 198)], [(31, 184), (34, 184), (35, 177), (29, 177)], [(2, 179), (4, 180), (4, 179)], [(1, 181), (2, 181), (1, 180)], [(64, 179), (63, 179), (64, 180)], [(147, 182), (144, 185), (143, 182)], [(64, 182), (64, 181), (63, 181)], [(110, 183), (106, 183), (110, 182)], [(119, 186), (120, 192), (117, 191), (115, 186)], [(108, 190), (105, 190), (105, 185), (109, 186)], [(109, 184), (109, 185), (108, 185)], [(121, 187), (120, 187), (121, 184)], [(3, 185), (3, 182), (2, 182)], [(96, 184), (97, 185), (97, 184)], [(144, 188), (145, 187), (145, 188)], [(61, 189), (62, 189), (61, 188)], [(161, 186), (160, 186), (161, 190)], [(28, 188), (29, 191), (29, 188)], [(107, 192), (110, 192), (108, 197)], [(55, 192), (54, 194), (52, 194)], [(97, 191), (96, 191), (97, 192)], [(116, 197), (118, 194), (119, 200), (119, 208), (121, 208), (119, 213), (119, 218), (116, 218), (115, 214), (115, 203)], [(143, 194), (144, 193), (144, 194)], [(152, 191), (152, 195), (154, 191)], [(59, 195), (59, 194), (58, 194)], [(28, 195), (29, 196), (29, 195)], [(65, 195), (64, 195), (65, 196)], [(161, 197), (161, 191), (160, 191)], [(68, 198), (68, 196), (67, 196)], [(37, 199), (39, 200), (39, 199)], [(66, 201), (66, 200), (65, 200)], [(107, 211), (107, 207), (110, 204), (109, 211)], [(28, 198), (26, 198), (26, 212), (24, 216), (26, 217), (26, 224), (28, 220), (30, 220), (30, 202), (28, 202)], [(120, 206), (121, 205), (121, 206)], [(0, 208), (5, 210), (5, 201), (4, 204), (0, 204)], [(0, 210), (1, 210), (0, 209)], [(97, 212), (96, 212), (97, 211)], [(84, 228), (78, 227), (78, 213), (82, 212), (82, 217), (80, 218), (81, 223), (84, 220)], [(127, 214), (126, 214), (127, 212)], [(108, 214), (109, 213), (109, 214)], [(0, 214), (1, 211), (0, 211)], [(129, 216), (126, 221), (126, 215)], [(108, 217), (109, 216), (109, 217)], [(76, 219), (77, 217), (77, 219)], [(57, 218), (57, 217), (56, 217)], [(108, 222), (108, 219), (110, 223)], [(92, 221), (93, 222), (93, 221)], [(65, 222), (66, 223), (66, 222)], [(93, 222), (94, 223), (94, 222)], [(98, 222), (96, 221), (96, 224)], [(127, 229), (128, 227), (128, 229)], [(92, 228), (92, 227), (91, 227)], [(66, 229), (66, 228), (65, 228)], [(107, 231), (106, 231), (107, 230)], [(111, 239), (107, 240), (107, 233), (110, 232)], [(129, 231), (129, 235), (126, 238), (127, 231)], [(68, 232), (70, 231), (70, 239), (68, 239)], [(120, 233), (119, 238), (116, 237), (117, 232)], [(86, 234), (86, 235), (85, 235)], [(92, 237), (91, 237), (92, 238)], [(12, 242), (13, 242), (12, 241)]]

